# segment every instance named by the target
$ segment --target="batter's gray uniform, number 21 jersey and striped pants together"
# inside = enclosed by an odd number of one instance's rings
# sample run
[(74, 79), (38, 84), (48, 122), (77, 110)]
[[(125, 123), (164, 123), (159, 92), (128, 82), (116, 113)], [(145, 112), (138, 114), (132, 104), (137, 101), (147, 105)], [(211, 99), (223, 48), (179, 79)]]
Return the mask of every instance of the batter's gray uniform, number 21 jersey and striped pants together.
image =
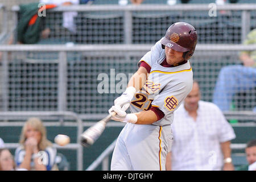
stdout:
[(165, 59), (162, 44), (157, 42), (142, 57), (150, 67), (143, 88), (135, 93), (131, 113), (149, 110), (163, 111), (164, 117), (152, 125), (127, 123), (114, 148), (111, 170), (165, 170), (166, 155), (171, 150), (171, 123), (174, 111), (192, 89), (193, 73), (189, 61), (177, 67), (160, 65)]

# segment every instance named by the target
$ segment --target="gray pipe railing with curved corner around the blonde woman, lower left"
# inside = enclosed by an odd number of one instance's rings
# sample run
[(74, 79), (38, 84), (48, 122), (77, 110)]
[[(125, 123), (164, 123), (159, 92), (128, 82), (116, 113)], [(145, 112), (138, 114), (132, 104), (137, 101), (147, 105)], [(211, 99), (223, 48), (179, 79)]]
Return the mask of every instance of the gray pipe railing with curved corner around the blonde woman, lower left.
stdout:
[[(69, 111), (7, 111), (0, 112), (0, 127), (22, 127), (24, 125), (24, 121), (28, 117), (39, 117), (43, 119), (44, 126), (49, 127), (77, 127), (77, 141), (75, 143), (69, 143), (66, 146), (58, 146), (57, 144), (53, 144), (57, 149), (61, 150), (76, 150), (77, 155), (77, 170), (81, 171), (83, 168), (83, 147), (80, 144), (80, 135), (83, 131), (82, 120), (76, 113), (72, 113)], [(64, 121), (65, 119), (74, 120), (76, 122)], [(49, 121), (47, 121), (49, 120)], [(3, 136), (2, 136), (3, 137)], [(52, 141), (53, 142), (53, 141)], [(17, 148), (19, 143), (5, 143), (5, 146), (10, 149)]]

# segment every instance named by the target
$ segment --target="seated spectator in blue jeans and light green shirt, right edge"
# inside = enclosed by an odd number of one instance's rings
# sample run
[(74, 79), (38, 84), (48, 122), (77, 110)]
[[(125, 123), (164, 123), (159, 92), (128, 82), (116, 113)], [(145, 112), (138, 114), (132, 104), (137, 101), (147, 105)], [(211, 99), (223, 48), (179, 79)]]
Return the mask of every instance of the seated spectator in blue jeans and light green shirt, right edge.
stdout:
[[(256, 44), (256, 28), (249, 32), (243, 44)], [(232, 108), (234, 94), (256, 87), (256, 50), (241, 52), (240, 60), (242, 65), (228, 65), (218, 75), (213, 103), (222, 111)]]

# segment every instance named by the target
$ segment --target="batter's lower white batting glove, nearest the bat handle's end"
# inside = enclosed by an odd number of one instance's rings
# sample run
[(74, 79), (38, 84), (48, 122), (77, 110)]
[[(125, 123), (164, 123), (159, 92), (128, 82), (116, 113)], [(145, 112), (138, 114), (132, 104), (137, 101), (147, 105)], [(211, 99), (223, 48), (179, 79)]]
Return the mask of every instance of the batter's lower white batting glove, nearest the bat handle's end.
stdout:
[[(115, 116), (112, 116), (112, 119), (114, 121), (119, 121), (119, 122), (129, 122), (129, 123), (136, 123), (138, 120), (137, 115), (131, 113), (131, 114), (126, 114), (125, 111), (123, 111), (122, 109), (116, 108), (115, 106), (112, 106), (109, 109), (109, 114), (111, 114), (112, 112), (117, 113)], [(120, 114), (120, 115), (119, 115)]]

